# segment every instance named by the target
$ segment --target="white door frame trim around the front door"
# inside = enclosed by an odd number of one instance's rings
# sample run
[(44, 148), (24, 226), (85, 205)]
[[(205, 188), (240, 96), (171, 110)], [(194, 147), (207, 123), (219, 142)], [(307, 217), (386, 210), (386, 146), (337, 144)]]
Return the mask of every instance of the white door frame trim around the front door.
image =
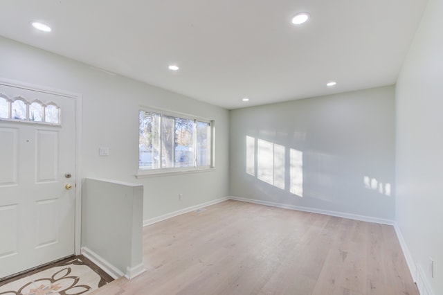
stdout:
[[(64, 96), (75, 100), (75, 237), (74, 237), (74, 251), (75, 255), (80, 255), (81, 252), (81, 238), (82, 238), (82, 169), (80, 156), (82, 147), (82, 102), (83, 97), (80, 93), (73, 93), (69, 91), (53, 89), (37, 84), (30, 84), (17, 80), (10, 80), (0, 78), (0, 84), (10, 87), (18, 87), (32, 91), (39, 91), (43, 93), (55, 94), (57, 96)], [(49, 262), (49, 261), (48, 261)]]

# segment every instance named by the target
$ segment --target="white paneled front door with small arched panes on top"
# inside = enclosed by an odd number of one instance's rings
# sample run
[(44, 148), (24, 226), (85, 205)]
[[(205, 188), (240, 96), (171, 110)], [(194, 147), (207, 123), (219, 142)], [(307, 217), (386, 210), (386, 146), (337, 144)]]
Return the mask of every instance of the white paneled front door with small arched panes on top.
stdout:
[(0, 278), (73, 255), (74, 238), (75, 98), (0, 83)]

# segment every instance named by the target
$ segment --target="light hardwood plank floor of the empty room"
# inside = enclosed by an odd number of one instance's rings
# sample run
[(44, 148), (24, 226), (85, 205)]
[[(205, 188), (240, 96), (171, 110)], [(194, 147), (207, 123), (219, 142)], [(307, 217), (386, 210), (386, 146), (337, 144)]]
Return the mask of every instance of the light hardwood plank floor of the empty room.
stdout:
[(230, 200), (143, 243), (147, 271), (93, 294), (418, 294), (388, 225)]

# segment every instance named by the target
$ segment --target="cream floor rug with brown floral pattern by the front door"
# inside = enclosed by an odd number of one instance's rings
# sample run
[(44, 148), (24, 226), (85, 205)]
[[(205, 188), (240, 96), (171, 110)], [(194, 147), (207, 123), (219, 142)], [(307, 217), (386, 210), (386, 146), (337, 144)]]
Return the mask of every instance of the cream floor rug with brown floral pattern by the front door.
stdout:
[[(100, 276), (83, 257), (58, 262), (44, 270), (12, 280), (5, 285), (0, 282), (0, 295), (74, 295), (88, 294), (112, 280)], [(34, 271), (33, 271), (34, 272)]]

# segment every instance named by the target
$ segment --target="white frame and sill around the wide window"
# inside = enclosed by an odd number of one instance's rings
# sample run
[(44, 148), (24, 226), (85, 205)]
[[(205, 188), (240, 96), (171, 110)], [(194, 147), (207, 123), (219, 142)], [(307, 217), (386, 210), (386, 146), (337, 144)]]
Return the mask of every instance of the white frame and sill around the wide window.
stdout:
[[(211, 172), (215, 170), (215, 120), (210, 120), (208, 118), (201, 118), (199, 116), (194, 116), (190, 114), (179, 113), (176, 111), (169, 111), (165, 109), (154, 109), (151, 107), (138, 107), (138, 116), (140, 116), (141, 111), (152, 112), (156, 114), (161, 114), (163, 116), (172, 116), (174, 118), (183, 118), (186, 120), (194, 120), (199, 122), (208, 123), (210, 126), (210, 164), (208, 166), (197, 166), (197, 163), (193, 167), (175, 167), (175, 168), (156, 168), (156, 169), (140, 169), (140, 159), (138, 159), (136, 178), (145, 177), (155, 177), (161, 175), (177, 175), (184, 173), (194, 173), (194, 172)], [(195, 125), (197, 127), (197, 124)], [(140, 128), (140, 125), (138, 125)], [(197, 135), (197, 130), (195, 130)], [(197, 136), (194, 140), (195, 147), (197, 147)], [(138, 158), (140, 157), (140, 141), (138, 141)], [(197, 155), (197, 148), (195, 149)], [(161, 150), (162, 152), (162, 150)], [(160, 154), (161, 157), (161, 154)]]

